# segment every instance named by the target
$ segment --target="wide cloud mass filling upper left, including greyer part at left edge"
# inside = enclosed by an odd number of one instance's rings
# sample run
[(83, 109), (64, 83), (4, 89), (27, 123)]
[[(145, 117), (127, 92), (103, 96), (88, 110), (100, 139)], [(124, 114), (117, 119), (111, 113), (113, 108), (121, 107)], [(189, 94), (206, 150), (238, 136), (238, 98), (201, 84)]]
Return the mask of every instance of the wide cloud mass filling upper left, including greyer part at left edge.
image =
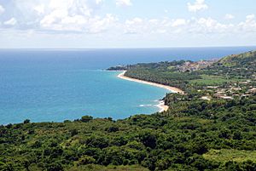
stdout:
[(118, 18), (113, 14), (98, 15), (104, 0), (15, 0), (14, 19), (3, 28), (63, 33), (100, 33), (107, 31)]

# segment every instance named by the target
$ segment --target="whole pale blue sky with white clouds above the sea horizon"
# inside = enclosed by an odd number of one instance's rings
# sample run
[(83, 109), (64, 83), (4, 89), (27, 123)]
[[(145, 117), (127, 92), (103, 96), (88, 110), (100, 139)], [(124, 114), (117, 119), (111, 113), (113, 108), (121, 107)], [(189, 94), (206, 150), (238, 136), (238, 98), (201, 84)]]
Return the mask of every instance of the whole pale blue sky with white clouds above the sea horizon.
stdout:
[(0, 0), (0, 48), (254, 45), (255, 0)]

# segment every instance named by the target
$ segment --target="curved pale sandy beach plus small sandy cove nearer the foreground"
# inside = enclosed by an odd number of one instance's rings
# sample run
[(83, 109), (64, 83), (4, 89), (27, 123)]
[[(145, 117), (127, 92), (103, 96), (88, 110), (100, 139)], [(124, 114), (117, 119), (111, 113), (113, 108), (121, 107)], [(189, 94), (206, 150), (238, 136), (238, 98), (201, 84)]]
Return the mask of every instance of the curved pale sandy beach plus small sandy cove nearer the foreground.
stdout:
[[(152, 82), (148, 82), (148, 81), (143, 81), (143, 80), (139, 80), (139, 79), (136, 79), (136, 78), (126, 77), (125, 72), (126, 71), (123, 71), (122, 73), (119, 73), (119, 75), (117, 77), (119, 77), (121, 79), (131, 81), (131, 82), (144, 83), (144, 84), (148, 84), (148, 85), (155, 86), (155, 87), (158, 87), (158, 88), (165, 88), (165, 89), (167, 89), (167, 90), (169, 90), (169, 91), (171, 91), (172, 93), (175, 93), (175, 94), (177, 94), (177, 93), (184, 94), (183, 90), (181, 90), (179, 88), (166, 86), (166, 85), (163, 85), (163, 84), (160, 84), (160, 83), (152, 83)], [(159, 112), (167, 111), (169, 109), (169, 106), (165, 105), (165, 102), (163, 100), (160, 100), (160, 104), (157, 105), (157, 106), (160, 108)]]

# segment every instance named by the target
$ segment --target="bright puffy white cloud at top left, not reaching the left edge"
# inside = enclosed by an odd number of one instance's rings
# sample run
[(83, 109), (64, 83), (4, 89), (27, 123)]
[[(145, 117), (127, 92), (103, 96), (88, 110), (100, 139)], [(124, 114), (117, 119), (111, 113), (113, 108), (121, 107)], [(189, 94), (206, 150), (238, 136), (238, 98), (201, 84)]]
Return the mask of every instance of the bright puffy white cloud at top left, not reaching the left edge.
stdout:
[[(39, 21), (40, 26), (49, 31), (105, 31), (118, 19), (112, 14), (97, 16), (95, 11), (101, 3), (102, 0), (51, 0), (48, 11)], [(44, 11), (43, 8), (37, 9), (39, 13)]]

